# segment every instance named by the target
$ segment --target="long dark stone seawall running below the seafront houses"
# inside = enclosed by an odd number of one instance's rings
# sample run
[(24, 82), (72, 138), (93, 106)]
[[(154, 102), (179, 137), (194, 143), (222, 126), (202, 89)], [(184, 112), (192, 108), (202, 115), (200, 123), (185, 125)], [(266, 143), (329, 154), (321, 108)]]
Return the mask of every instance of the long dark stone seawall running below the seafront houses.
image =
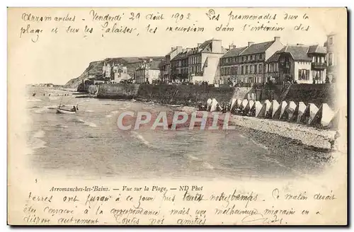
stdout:
[[(293, 84), (282, 100), (335, 105), (333, 84)], [(251, 98), (252, 100), (280, 100), (282, 85), (254, 85), (252, 87), (212, 87), (212, 86), (173, 86), (146, 84), (101, 84), (97, 98), (132, 99), (154, 101), (171, 105), (205, 104), (208, 98), (215, 98), (219, 103), (229, 103), (232, 98)], [(253, 94), (253, 95), (252, 95)]]

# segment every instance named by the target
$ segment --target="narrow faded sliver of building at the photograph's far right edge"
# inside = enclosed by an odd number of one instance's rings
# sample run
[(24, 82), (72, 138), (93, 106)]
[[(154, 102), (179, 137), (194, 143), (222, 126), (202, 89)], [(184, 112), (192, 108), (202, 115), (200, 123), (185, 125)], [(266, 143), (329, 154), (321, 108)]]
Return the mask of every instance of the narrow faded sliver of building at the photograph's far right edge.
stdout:
[(327, 41), (324, 43), (326, 47), (326, 61), (327, 61), (327, 76), (329, 77), (329, 81), (332, 82), (333, 78), (336, 78), (336, 69), (337, 69), (337, 59), (338, 52), (336, 51), (336, 34), (330, 33), (327, 35)]

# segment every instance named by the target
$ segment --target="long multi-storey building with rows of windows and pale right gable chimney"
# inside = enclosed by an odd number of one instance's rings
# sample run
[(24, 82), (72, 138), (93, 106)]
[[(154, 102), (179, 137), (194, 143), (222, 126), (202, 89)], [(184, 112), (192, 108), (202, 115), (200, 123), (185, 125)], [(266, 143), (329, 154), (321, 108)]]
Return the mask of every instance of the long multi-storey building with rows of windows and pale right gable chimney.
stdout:
[(236, 83), (265, 83), (265, 61), (284, 45), (280, 37), (268, 42), (249, 42), (246, 47), (232, 48), (220, 61), (220, 80), (232, 79)]

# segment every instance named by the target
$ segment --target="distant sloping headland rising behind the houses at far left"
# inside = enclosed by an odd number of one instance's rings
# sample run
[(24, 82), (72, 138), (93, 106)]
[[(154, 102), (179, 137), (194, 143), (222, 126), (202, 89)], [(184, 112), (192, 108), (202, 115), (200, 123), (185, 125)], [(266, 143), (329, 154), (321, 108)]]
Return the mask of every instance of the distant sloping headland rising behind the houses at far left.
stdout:
[(120, 63), (127, 66), (127, 72), (130, 76), (134, 73), (135, 69), (144, 59), (153, 59), (154, 61), (161, 61), (163, 57), (117, 57), (117, 58), (107, 58), (101, 61), (91, 62), (85, 71), (77, 78), (68, 81), (64, 87), (65, 88), (77, 88), (82, 80), (89, 78), (89, 74), (98, 75), (102, 74), (102, 67), (104, 62), (109, 62), (110, 64)]

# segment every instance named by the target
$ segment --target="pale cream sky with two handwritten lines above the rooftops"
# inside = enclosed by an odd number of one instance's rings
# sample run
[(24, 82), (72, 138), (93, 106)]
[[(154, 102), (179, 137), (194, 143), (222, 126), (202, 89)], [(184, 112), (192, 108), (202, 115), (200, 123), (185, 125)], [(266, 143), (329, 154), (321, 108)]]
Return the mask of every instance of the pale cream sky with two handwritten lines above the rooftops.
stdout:
[[(222, 40), (225, 48), (231, 43), (241, 47), (249, 41), (270, 41), (275, 36), (280, 37), (283, 45), (324, 45), (327, 34), (346, 31), (346, 11), (343, 8), (213, 8), (213, 11), (214, 14), (210, 8), (10, 8), (8, 78), (21, 79), (21, 83), (64, 84), (78, 77), (89, 66), (89, 62), (108, 57), (164, 56), (171, 47), (196, 47), (198, 43), (211, 38)], [(231, 11), (234, 20), (229, 21)], [(50, 16), (52, 20), (25, 21), (29, 13), (31, 16)], [(148, 20), (151, 13), (154, 16), (163, 14), (164, 20)], [(176, 22), (177, 13), (180, 20)], [(95, 16), (107, 14), (121, 19), (108, 21), (108, 25), (97, 17), (94, 19)], [(285, 18), (286, 14), (297, 18)], [(257, 17), (253, 20), (238, 18), (247, 15)], [(214, 19), (210, 19), (212, 16)], [(58, 22), (55, 17), (71, 18), (72, 21)], [(106, 33), (105, 30), (113, 28), (114, 23), (118, 23), (115, 28), (127, 26), (137, 29), (132, 33)], [(228, 23), (229, 28), (234, 28), (233, 31), (215, 30)], [(84, 32), (86, 25), (93, 28), (92, 33)], [(148, 25), (152, 29), (150, 32), (147, 31)], [(283, 27), (284, 30), (250, 30), (260, 25)], [(79, 32), (67, 33), (69, 26), (78, 28)], [(166, 31), (170, 26), (203, 27), (204, 31)], [(295, 27), (309, 28), (295, 30)], [(57, 33), (52, 33), (55, 28)], [(35, 30), (42, 32), (37, 36)]]

